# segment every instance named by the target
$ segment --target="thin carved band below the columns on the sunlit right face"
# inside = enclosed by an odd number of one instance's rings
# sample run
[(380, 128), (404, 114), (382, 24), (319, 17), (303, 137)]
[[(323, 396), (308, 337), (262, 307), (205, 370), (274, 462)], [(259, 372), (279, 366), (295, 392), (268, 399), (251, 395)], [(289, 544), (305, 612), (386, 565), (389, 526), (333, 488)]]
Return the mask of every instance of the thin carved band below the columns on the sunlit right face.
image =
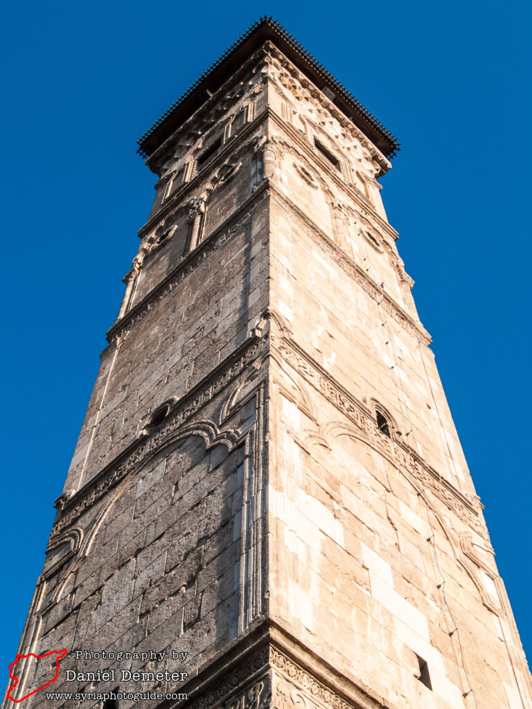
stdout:
[(270, 191), (273, 196), (275, 196), (282, 206), (288, 207), (294, 212), (299, 219), (309, 228), (311, 237), (314, 238), (318, 245), (324, 246), (328, 251), (328, 255), (333, 259), (336, 264), (338, 264), (343, 270), (353, 278), (366, 293), (377, 301), (385, 313), (392, 318), (395, 318), (411, 335), (416, 337), (416, 340), (423, 342), (423, 344), (430, 345), (432, 342), (431, 335), (423, 328), (421, 323), (417, 323), (414, 318), (411, 318), (408, 313), (406, 313), (401, 306), (394, 301), (394, 299), (389, 296), (382, 288), (379, 288), (377, 284), (365, 273), (362, 269), (352, 261), (343, 250), (341, 250), (335, 243), (331, 241), (328, 236), (321, 231), (321, 229), (314, 224), (314, 222), (309, 219), (304, 212), (302, 212), (299, 207), (292, 202), (287, 196), (282, 194), (275, 184), (270, 185)]

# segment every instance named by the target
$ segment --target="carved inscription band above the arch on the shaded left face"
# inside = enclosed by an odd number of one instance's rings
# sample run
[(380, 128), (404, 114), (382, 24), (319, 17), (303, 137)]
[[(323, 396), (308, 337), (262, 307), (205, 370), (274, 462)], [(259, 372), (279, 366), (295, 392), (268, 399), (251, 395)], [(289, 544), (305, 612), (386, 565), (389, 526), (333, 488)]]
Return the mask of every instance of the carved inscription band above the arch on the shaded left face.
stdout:
[[(125, 451), (106, 465), (87, 485), (74, 493), (64, 504), (62, 516), (53, 525), (50, 540), (59, 535), (85, 510), (115, 487), (133, 468), (143, 462), (148, 454), (156, 452), (169, 435), (178, 432), (191, 416), (197, 413), (206, 403), (209, 403), (214, 396), (235, 379), (235, 376), (243, 372), (243, 369), (250, 362), (253, 362), (260, 354), (264, 353), (267, 350), (267, 344), (268, 338), (266, 336), (259, 339), (255, 335), (243, 342), (243, 345), (240, 345), (238, 350), (227, 357), (208, 376), (204, 377), (199, 384), (194, 386), (194, 389), (185, 394), (176, 403), (162, 428), (149, 437), (143, 436), (135, 440)], [(223, 442), (232, 448), (239, 442), (238, 435), (235, 432), (218, 432), (214, 424), (211, 424), (211, 428), (213, 429), (212, 431), (203, 431), (204, 437), (208, 437), (210, 440), (209, 445), (214, 445), (215, 442)]]

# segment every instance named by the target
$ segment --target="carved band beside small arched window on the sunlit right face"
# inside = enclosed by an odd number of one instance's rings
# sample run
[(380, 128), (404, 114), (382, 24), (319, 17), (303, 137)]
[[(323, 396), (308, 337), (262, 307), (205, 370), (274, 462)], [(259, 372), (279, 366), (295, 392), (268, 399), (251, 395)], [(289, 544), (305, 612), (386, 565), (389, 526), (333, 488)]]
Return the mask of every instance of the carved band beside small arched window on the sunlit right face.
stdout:
[(392, 464), (401, 471), (408, 471), (422, 489), (430, 490), (436, 497), (452, 510), (463, 523), (472, 527), (482, 537), (487, 538), (487, 530), (473, 504), (462, 495), (450, 482), (445, 480), (438, 471), (423, 461), (409, 445), (402, 441), (390, 440), (375, 428), (375, 421), (370, 412), (358, 402), (352, 394), (328, 374), (309, 354), (288, 337), (271, 334), (272, 347), (277, 350), (282, 361), (287, 362), (306, 379), (314, 389), (319, 391), (335, 406), (338, 411), (347, 416), (359, 428), (365, 437), (371, 440)]

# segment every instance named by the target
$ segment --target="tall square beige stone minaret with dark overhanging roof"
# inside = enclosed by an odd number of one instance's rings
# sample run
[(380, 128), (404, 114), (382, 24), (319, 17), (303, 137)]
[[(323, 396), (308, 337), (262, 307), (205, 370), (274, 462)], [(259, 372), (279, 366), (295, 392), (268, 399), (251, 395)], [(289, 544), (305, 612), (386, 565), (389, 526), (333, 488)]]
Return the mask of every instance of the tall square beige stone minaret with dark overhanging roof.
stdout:
[[(379, 194), (396, 150), (270, 19), (140, 140), (155, 201), (19, 650), (126, 698), (21, 706), (532, 707)], [(24, 662), (19, 697), (50, 670)]]

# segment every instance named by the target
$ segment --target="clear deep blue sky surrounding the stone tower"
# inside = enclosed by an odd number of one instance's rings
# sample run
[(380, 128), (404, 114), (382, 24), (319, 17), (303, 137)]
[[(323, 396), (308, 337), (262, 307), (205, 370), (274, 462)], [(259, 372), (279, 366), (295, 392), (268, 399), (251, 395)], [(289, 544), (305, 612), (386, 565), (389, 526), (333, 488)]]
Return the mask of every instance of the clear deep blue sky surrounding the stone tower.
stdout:
[(153, 199), (135, 140), (262, 14), (401, 141), (384, 203), (532, 656), (530, 1), (34, 0), (0, 23), (5, 681)]

